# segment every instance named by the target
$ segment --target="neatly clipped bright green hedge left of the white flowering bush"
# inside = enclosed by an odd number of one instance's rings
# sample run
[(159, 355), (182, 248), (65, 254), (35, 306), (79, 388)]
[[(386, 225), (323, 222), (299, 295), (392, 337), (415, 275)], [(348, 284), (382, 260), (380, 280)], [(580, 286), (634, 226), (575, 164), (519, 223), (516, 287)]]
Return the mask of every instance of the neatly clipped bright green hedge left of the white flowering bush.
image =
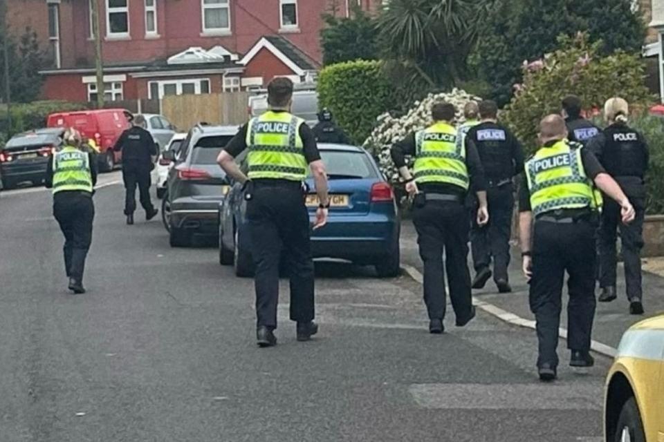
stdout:
[(371, 133), (376, 117), (394, 107), (394, 88), (382, 75), (379, 61), (348, 61), (324, 68), (318, 78), (321, 107), (356, 143)]

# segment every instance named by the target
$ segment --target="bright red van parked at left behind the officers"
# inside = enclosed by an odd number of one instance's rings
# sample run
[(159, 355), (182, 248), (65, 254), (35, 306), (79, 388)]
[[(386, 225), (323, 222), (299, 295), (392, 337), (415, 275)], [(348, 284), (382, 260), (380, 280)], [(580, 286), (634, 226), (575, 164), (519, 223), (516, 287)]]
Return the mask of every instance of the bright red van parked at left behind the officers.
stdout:
[(98, 111), (62, 112), (48, 115), (48, 127), (73, 127), (84, 137), (95, 140), (99, 147), (100, 169), (110, 172), (122, 161), (122, 153), (113, 152), (113, 146), (127, 128), (131, 113), (126, 109), (100, 109)]

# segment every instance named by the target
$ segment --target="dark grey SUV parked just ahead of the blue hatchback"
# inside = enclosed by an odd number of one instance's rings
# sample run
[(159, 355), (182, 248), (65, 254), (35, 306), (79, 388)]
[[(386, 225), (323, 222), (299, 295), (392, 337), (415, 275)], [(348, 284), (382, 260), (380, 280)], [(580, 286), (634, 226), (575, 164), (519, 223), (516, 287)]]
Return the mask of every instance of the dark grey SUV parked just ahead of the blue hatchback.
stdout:
[(199, 124), (187, 134), (177, 157), (165, 153), (175, 163), (162, 201), (171, 247), (189, 246), (194, 235), (219, 235), (219, 204), (228, 193), (228, 180), (216, 157), (237, 131), (237, 126)]

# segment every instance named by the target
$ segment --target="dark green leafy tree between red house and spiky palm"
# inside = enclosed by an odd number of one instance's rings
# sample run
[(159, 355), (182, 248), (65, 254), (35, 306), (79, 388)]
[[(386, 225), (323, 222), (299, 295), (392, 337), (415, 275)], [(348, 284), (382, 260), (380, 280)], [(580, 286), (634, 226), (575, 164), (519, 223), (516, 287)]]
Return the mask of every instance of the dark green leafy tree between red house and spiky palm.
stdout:
[(375, 20), (362, 8), (353, 6), (351, 17), (339, 19), (335, 12), (323, 15), (326, 27), (320, 32), (325, 66), (357, 59), (378, 57), (378, 30)]

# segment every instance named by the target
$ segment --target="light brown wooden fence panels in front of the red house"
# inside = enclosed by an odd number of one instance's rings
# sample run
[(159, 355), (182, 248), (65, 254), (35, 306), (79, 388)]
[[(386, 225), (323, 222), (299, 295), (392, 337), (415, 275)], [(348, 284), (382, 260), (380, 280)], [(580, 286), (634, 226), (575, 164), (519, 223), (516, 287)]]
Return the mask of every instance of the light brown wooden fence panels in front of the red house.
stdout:
[(188, 130), (196, 123), (242, 124), (247, 121), (246, 92), (173, 95), (162, 100), (162, 113), (182, 130)]

